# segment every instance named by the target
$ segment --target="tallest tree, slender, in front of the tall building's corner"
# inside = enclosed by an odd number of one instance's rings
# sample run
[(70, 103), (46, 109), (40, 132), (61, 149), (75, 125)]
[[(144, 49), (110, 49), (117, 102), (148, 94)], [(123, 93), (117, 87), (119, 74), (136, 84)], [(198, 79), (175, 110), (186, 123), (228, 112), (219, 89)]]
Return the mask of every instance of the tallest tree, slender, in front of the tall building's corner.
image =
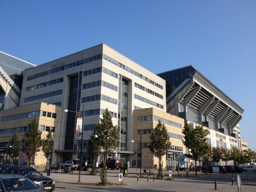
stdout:
[(105, 177), (106, 160), (108, 154), (113, 153), (119, 145), (119, 130), (117, 126), (113, 126), (112, 117), (106, 108), (106, 111), (100, 118), (100, 122), (95, 124), (95, 134), (98, 135), (98, 144), (101, 147), (103, 154), (102, 168), (100, 170), (101, 184), (106, 185), (107, 179)]

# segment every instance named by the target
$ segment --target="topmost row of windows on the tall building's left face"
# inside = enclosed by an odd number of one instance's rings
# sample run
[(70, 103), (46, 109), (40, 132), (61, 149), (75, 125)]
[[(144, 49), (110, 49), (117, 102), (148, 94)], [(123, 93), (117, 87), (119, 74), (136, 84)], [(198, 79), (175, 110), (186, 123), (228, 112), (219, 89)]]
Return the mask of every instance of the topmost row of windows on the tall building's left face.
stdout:
[(47, 71), (43, 71), (43, 72), (34, 74), (32, 76), (27, 77), (27, 81), (30, 81), (32, 79), (36, 79), (36, 78), (39, 78), (39, 77), (43, 77), (43, 76), (46, 76), (46, 75), (50, 75), (50, 74), (53, 74), (53, 73), (57, 73), (59, 71), (63, 71), (63, 70), (66, 70), (66, 69), (69, 69), (69, 68), (72, 68), (72, 67), (76, 67), (76, 66), (79, 66), (81, 64), (87, 64), (87, 63), (90, 63), (90, 62), (93, 62), (93, 61), (96, 61), (96, 60), (99, 60), (99, 59), (102, 59), (101, 54), (95, 55), (93, 57), (89, 57), (89, 58), (86, 58), (86, 59), (83, 59), (83, 60), (80, 60), (80, 61), (77, 61), (77, 62), (73, 62), (71, 64), (65, 64), (65, 65), (62, 65), (62, 66), (59, 66), (59, 67), (56, 67), (56, 68), (53, 68), (53, 69), (50, 69), (50, 70), (47, 70)]

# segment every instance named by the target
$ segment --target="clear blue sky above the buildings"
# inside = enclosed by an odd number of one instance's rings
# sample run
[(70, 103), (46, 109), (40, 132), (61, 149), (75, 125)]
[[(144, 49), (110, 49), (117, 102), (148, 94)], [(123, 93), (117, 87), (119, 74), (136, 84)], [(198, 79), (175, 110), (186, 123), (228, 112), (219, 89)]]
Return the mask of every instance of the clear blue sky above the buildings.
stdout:
[(154, 73), (192, 64), (256, 151), (256, 0), (0, 0), (0, 51), (39, 65), (100, 43)]

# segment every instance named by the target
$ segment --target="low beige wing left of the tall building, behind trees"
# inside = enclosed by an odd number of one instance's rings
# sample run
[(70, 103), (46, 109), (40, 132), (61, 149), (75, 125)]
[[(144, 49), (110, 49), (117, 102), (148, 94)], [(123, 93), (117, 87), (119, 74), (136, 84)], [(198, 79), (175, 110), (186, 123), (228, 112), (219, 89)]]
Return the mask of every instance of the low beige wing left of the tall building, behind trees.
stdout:
[[(28, 125), (35, 118), (38, 122), (38, 129), (42, 131), (42, 139), (46, 137), (49, 129), (53, 131), (54, 150), (56, 150), (59, 148), (62, 113), (62, 107), (43, 102), (0, 111), (1, 142), (9, 142), (14, 131), (17, 132), (19, 140), (22, 140), (24, 131), (27, 130)], [(22, 157), (22, 154), (23, 152), (20, 153), (19, 162), (28, 161), (28, 157)], [(5, 159), (7, 160), (8, 157), (5, 157)], [(38, 152), (32, 160), (36, 165), (45, 164), (46, 162), (42, 151)], [(57, 154), (55, 152), (53, 152), (51, 162), (57, 162)]]

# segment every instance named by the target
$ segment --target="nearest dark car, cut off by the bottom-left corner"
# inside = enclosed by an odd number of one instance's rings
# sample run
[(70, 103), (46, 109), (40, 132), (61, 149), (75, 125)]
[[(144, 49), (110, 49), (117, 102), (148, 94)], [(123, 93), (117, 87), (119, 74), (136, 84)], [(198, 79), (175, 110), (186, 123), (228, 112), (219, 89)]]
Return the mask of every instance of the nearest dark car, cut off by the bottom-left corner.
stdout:
[(0, 175), (0, 192), (43, 192), (31, 179), (22, 175)]

